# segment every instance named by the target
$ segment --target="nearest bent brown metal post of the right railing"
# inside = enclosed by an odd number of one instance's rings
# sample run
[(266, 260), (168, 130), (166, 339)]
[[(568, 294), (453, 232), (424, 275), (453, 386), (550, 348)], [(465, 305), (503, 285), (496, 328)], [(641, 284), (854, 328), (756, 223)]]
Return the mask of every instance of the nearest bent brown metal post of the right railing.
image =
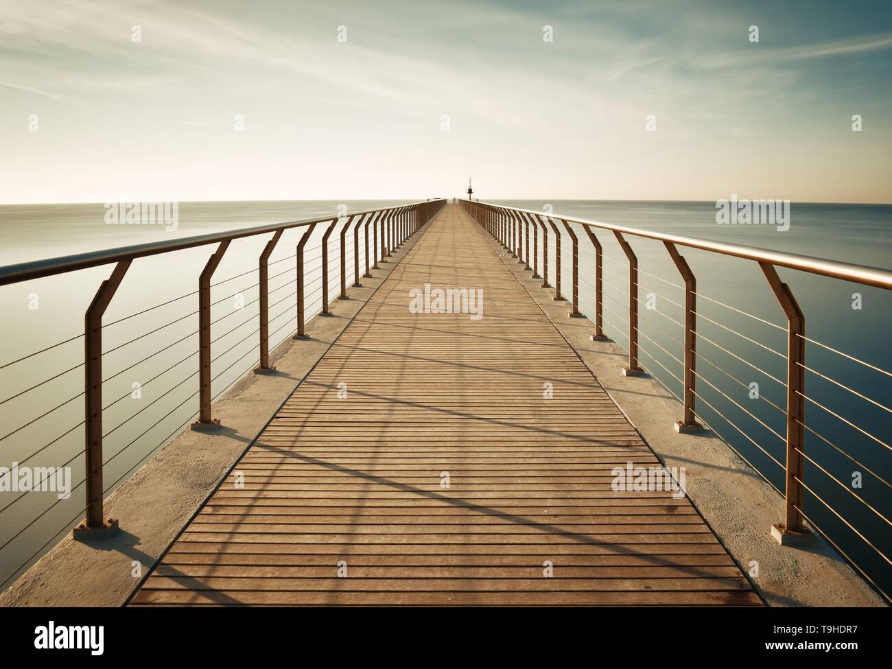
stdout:
[(789, 285), (780, 281), (777, 270), (767, 262), (759, 267), (787, 317), (787, 481), (784, 489), (784, 522), (772, 525), (772, 537), (780, 545), (812, 541), (802, 524), (805, 506), (805, 314)]

